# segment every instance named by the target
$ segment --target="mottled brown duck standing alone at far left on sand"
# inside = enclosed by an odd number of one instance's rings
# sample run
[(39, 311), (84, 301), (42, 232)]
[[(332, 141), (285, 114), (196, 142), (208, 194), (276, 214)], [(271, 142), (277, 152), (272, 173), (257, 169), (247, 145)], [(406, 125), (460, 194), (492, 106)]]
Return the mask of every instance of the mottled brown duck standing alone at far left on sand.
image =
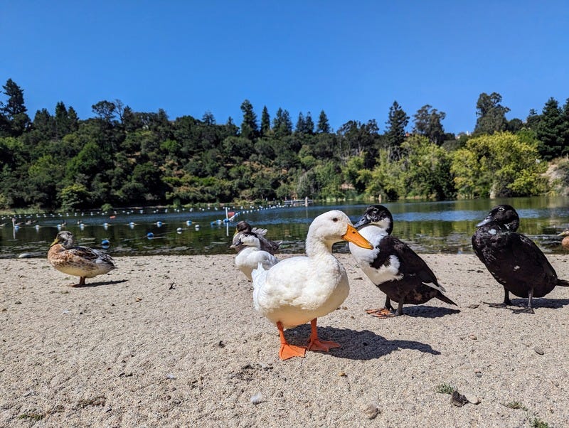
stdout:
[(85, 285), (85, 278), (93, 278), (115, 269), (115, 262), (105, 252), (75, 245), (73, 234), (67, 230), (58, 232), (48, 251), (48, 262), (64, 274), (80, 277), (79, 284)]

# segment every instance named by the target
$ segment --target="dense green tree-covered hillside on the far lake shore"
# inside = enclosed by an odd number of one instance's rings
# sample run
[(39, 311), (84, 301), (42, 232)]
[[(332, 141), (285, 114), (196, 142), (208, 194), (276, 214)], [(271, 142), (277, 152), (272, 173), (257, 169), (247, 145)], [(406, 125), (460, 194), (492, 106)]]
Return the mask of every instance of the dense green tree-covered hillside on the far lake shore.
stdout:
[[(569, 99), (506, 119), (501, 95), (482, 93), (472, 134), (445, 133), (431, 105), (411, 117), (393, 102), (376, 119), (336, 132), (324, 110), (260, 119), (244, 100), (240, 124), (134, 112), (120, 100), (80, 119), (63, 102), (28, 114), (14, 80), (0, 97), (0, 208), (100, 208), (290, 198), (476, 198), (554, 191), (548, 162), (569, 151)], [(562, 186), (568, 161), (558, 161)], [(555, 183), (553, 183), (555, 184)]]

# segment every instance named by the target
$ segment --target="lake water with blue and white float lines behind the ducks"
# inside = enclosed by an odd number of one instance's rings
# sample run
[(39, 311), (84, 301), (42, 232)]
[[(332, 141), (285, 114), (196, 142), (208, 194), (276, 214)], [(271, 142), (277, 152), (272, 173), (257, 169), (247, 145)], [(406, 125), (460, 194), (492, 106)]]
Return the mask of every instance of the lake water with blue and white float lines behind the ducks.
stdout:
[[(442, 202), (384, 203), (394, 218), (393, 235), (417, 252), (469, 253), (474, 225), (499, 203), (513, 205), (521, 217), (519, 231), (544, 252), (561, 252), (559, 232), (569, 224), (569, 198), (509, 198)], [(46, 257), (58, 230), (70, 230), (79, 245), (105, 248), (114, 256), (234, 254), (229, 248), (239, 220), (267, 228), (267, 237), (282, 240), (282, 253), (304, 252), (312, 220), (327, 210), (343, 210), (353, 222), (367, 204), (270, 208), (230, 207), (235, 222), (223, 223), (223, 208), (209, 210), (136, 209), (107, 213), (56, 213), (0, 217), (0, 258)], [(26, 225), (26, 222), (30, 223)], [(65, 222), (65, 225), (61, 226)], [(159, 223), (160, 222), (160, 223)], [(191, 222), (191, 223), (190, 223)], [(59, 225), (59, 226), (58, 226)], [(196, 228), (198, 225), (198, 228)], [(149, 233), (152, 234), (149, 237)], [(105, 241), (108, 241), (108, 247)], [(334, 250), (346, 252), (347, 245)]]

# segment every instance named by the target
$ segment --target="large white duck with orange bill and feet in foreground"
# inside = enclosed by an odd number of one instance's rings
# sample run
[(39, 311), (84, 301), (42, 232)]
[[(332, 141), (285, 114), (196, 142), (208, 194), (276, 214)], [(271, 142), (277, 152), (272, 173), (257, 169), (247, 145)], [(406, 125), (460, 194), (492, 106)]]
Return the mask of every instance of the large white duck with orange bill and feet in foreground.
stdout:
[[(317, 318), (338, 308), (350, 290), (346, 270), (332, 255), (332, 244), (341, 240), (373, 249), (346, 214), (333, 210), (312, 221), (306, 240), (307, 256), (282, 260), (269, 270), (259, 265), (252, 272), (255, 309), (277, 325), (282, 360), (304, 357), (307, 348), (329, 351), (339, 347), (338, 343), (319, 340)], [(308, 347), (287, 343), (283, 330), (308, 321), (312, 327)]]

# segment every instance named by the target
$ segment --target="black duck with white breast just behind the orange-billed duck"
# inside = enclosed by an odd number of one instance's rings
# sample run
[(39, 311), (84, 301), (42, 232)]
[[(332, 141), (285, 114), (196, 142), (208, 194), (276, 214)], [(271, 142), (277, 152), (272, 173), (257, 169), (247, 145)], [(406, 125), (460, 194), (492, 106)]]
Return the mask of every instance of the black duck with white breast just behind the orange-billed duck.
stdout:
[(363, 273), (386, 294), (385, 308), (368, 309), (368, 314), (378, 318), (393, 316), (391, 300), (398, 302), (395, 316), (403, 315), (403, 304), (423, 304), (433, 297), (457, 306), (445, 296), (445, 288), (427, 263), (405, 242), (391, 236), (393, 215), (387, 208), (369, 206), (354, 227), (371, 242), (373, 249), (350, 244), (350, 252)]

